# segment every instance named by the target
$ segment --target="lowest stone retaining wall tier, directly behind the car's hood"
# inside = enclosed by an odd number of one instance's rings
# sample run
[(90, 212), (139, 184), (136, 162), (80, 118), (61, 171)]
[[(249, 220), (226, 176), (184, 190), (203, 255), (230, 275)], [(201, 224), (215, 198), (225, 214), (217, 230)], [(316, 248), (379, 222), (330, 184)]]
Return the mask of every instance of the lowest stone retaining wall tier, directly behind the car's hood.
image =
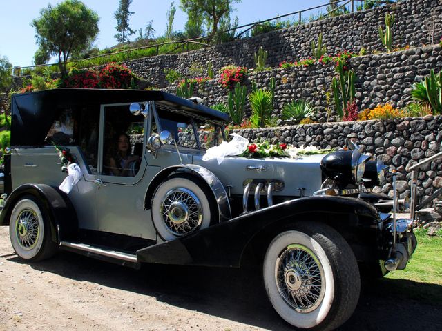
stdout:
[[(401, 199), (410, 197), (410, 166), (441, 151), (442, 116), (407, 117), (386, 121), (318, 123), (278, 128), (234, 130), (249, 141), (290, 143), (297, 147), (336, 148), (347, 137), (356, 138), (362, 150), (398, 171)], [(442, 188), (442, 159), (425, 165), (418, 176), (418, 196), (426, 198)], [(392, 195), (391, 181), (377, 192)]]

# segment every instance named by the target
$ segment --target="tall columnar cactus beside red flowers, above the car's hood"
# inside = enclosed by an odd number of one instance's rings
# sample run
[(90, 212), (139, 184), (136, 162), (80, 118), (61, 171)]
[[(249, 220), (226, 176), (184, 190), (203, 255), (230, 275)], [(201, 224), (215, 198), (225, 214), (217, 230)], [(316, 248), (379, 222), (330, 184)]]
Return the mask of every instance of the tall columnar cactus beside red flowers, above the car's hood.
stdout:
[(332, 89), (336, 111), (339, 117), (342, 118), (347, 110), (347, 105), (353, 103), (354, 94), (356, 93), (354, 88), (354, 72), (352, 70), (344, 70), (344, 63), (342, 61), (338, 61), (336, 71), (339, 77), (338, 79), (333, 77)]

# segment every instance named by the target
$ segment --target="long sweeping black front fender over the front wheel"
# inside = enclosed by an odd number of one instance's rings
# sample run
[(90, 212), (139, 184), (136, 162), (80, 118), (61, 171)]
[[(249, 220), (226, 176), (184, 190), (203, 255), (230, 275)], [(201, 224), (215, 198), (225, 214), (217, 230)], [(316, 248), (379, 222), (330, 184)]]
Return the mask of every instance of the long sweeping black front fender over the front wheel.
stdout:
[[(336, 228), (375, 237), (378, 213), (363, 201), (346, 197), (307, 197), (242, 214), (230, 221), (137, 251), (146, 263), (240, 267), (242, 256), (257, 237), (269, 237), (296, 221), (324, 221)], [(338, 226), (339, 228), (339, 226)], [(272, 237), (273, 236), (273, 237)], [(267, 242), (268, 243), (268, 242)], [(265, 249), (265, 248), (264, 248)]]

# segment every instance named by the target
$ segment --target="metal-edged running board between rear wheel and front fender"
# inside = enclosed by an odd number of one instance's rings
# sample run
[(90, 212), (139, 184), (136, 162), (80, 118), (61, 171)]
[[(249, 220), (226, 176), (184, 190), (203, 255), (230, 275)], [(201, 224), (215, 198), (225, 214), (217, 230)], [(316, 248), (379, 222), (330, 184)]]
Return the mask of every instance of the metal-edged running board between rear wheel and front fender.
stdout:
[(71, 252), (84, 254), (86, 257), (104, 259), (105, 261), (116, 262), (133, 268), (140, 268), (140, 263), (137, 260), (137, 256), (134, 254), (91, 246), (86, 243), (69, 243), (68, 241), (61, 241), (60, 247), (65, 250), (70, 250)]

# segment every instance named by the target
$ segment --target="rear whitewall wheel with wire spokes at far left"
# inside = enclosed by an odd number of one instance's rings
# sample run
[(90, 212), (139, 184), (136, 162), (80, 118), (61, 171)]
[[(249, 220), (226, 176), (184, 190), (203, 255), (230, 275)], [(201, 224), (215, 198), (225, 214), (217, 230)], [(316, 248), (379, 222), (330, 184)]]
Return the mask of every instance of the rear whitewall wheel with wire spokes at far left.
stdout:
[(22, 197), (15, 203), (9, 223), (9, 236), (15, 252), (28, 261), (41, 261), (57, 252), (52, 241), (48, 212), (32, 196)]

